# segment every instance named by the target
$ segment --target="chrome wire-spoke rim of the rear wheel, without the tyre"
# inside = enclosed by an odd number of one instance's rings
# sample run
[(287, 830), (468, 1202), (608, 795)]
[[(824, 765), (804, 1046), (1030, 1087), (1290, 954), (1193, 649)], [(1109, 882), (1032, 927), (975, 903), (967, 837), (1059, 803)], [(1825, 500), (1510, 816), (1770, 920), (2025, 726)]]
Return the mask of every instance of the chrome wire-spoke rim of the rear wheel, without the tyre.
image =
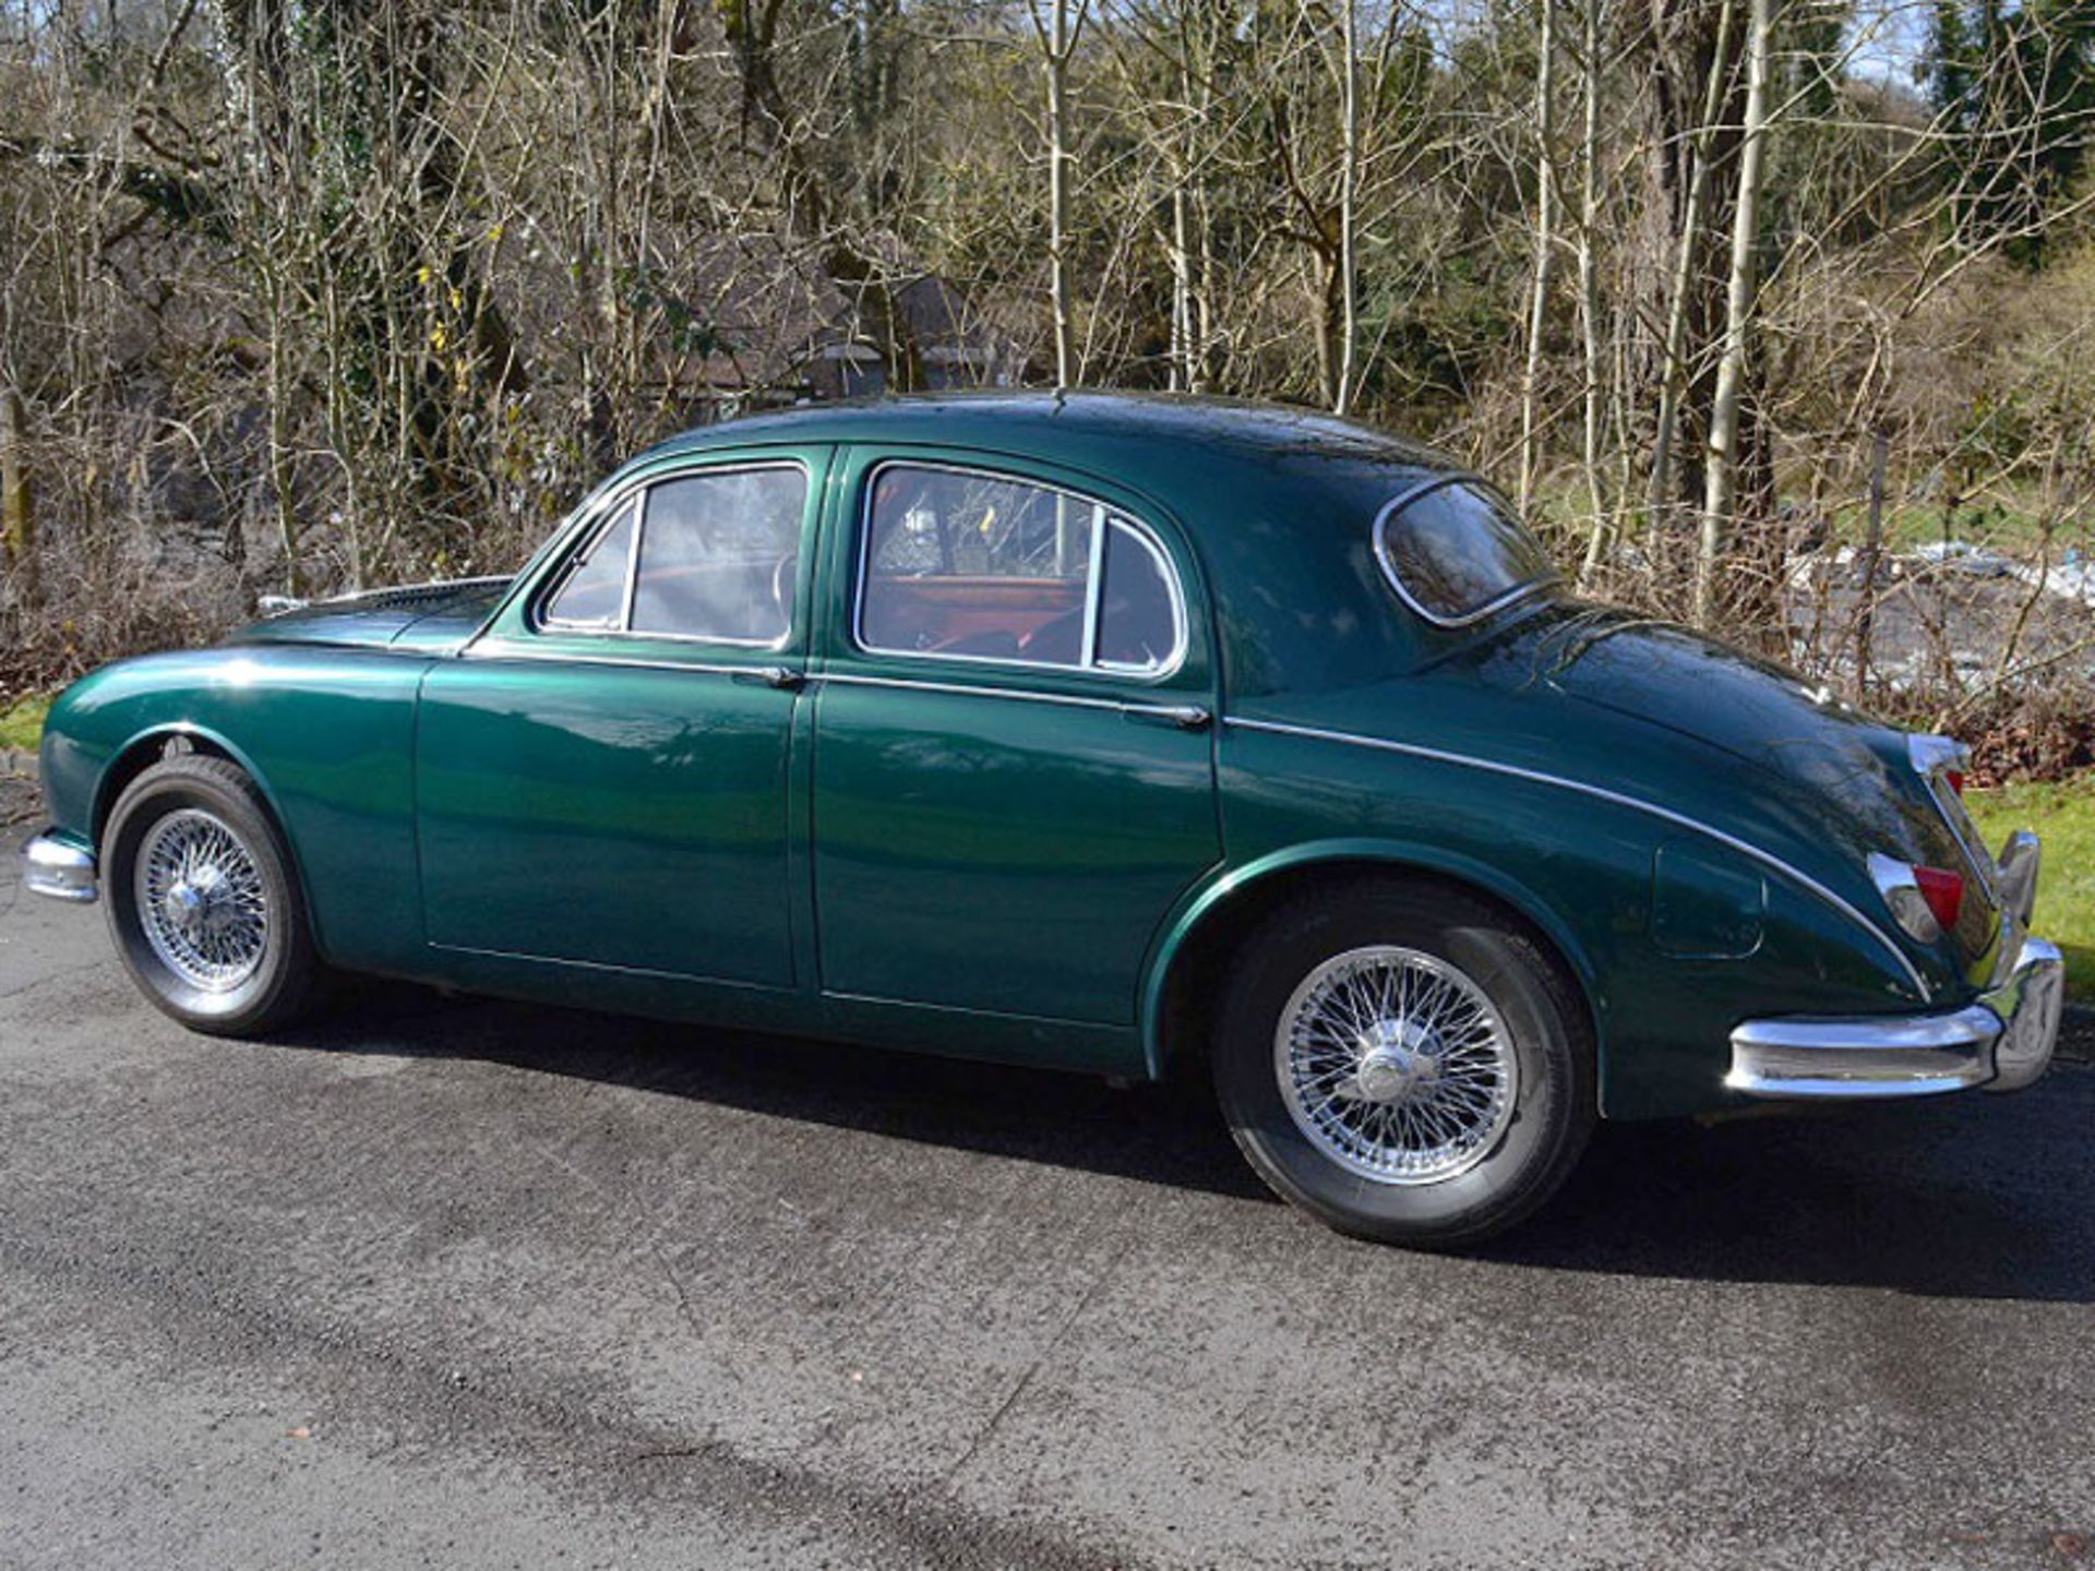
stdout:
[(1513, 1035), (1437, 955), (1349, 949), (1303, 978), (1274, 1031), (1295, 1127), (1374, 1183), (1439, 1183), (1498, 1146), (1519, 1098)]

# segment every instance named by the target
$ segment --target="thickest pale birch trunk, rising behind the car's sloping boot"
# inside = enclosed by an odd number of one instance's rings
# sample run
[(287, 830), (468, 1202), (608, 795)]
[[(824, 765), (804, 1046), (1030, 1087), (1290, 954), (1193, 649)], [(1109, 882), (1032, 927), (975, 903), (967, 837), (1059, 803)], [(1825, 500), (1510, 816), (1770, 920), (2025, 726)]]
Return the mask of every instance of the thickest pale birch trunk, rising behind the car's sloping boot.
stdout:
[(1695, 616), (1710, 622), (1716, 580), (1739, 511), (1739, 402), (1760, 295), (1760, 186), (1768, 163), (1768, 52), (1774, 0), (1751, 0), (1745, 38), (1745, 140), (1739, 147), (1739, 205), (1730, 228), (1730, 289), (1724, 300), (1724, 358), (1710, 404), (1710, 473), (1703, 486), (1701, 551), (1695, 557)]

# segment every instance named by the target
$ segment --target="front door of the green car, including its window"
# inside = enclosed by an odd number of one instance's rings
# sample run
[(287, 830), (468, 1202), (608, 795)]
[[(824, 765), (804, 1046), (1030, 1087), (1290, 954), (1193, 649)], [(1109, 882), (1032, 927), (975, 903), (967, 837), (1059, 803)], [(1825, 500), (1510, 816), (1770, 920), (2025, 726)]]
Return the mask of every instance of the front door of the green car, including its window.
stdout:
[[(794, 982), (794, 714), (828, 455), (612, 488), (417, 725), (427, 941)], [(804, 878), (804, 876), (802, 876)]]

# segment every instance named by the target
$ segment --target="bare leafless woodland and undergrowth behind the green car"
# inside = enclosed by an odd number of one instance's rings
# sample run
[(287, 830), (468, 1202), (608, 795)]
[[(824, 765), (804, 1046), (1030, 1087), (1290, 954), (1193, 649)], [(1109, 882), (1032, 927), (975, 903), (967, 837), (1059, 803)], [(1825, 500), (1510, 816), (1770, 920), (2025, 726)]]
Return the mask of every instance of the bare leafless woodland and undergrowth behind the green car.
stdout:
[(2089, 0), (0, 0), (0, 708), (851, 392), (1320, 404), (2095, 742)]

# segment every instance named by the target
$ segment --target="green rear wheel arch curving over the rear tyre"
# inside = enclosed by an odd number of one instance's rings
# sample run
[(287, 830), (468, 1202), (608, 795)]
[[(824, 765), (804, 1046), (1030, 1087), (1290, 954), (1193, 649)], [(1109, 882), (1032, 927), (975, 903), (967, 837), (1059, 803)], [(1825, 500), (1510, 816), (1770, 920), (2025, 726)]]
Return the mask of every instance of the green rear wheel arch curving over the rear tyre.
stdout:
[(1332, 842), (1295, 846), (1238, 867), (1200, 890), (1169, 924), (1142, 997), (1142, 1054), (1152, 1079), (1179, 1075), (1207, 1058), (1221, 968), (1274, 911), (1314, 894), (1362, 882), (1439, 884), (1481, 901), (1527, 930), (1552, 959), (1586, 1012), (1594, 1052), (1605, 1064), (1601, 989), (1575, 934), (1517, 880), (1494, 867), (1418, 846)]

